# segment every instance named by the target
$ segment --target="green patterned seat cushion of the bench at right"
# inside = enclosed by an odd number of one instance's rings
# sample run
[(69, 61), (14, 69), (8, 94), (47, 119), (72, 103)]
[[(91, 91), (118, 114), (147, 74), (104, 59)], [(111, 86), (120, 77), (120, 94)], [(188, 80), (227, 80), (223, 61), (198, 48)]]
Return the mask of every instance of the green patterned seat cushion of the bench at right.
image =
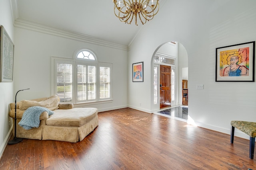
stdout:
[(231, 125), (236, 129), (246, 133), (250, 137), (256, 137), (256, 122), (231, 121)]

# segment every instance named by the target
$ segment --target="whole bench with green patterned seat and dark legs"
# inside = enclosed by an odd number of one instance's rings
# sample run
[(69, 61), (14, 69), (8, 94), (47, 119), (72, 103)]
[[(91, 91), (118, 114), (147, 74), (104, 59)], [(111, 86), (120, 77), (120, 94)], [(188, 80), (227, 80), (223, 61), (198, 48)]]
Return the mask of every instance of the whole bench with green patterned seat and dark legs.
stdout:
[(256, 137), (256, 122), (231, 121), (231, 126), (232, 127), (231, 127), (230, 143), (234, 143), (235, 128), (249, 135), (250, 136), (250, 158), (253, 159), (255, 137)]

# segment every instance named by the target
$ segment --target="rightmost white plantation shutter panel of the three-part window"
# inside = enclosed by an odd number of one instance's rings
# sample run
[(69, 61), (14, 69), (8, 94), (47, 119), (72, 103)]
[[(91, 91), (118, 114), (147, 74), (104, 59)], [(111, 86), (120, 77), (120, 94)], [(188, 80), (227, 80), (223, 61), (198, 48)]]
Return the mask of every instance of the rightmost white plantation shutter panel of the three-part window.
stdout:
[(100, 66), (100, 99), (110, 98), (110, 67)]

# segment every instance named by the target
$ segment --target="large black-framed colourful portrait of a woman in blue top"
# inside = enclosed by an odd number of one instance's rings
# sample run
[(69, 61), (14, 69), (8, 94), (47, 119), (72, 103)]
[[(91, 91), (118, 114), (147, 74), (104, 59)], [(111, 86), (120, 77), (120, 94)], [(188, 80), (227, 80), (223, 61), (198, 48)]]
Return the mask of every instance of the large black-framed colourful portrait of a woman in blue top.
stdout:
[(216, 48), (216, 82), (254, 82), (255, 41)]

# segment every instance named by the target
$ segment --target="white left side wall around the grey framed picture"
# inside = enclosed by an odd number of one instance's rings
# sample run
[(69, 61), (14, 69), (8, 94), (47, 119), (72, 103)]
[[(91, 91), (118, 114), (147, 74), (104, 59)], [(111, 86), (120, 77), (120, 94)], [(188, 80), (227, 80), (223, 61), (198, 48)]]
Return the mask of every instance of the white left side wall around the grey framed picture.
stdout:
[[(0, 25), (3, 25), (6, 29), (8, 35), (14, 41), (14, 27), (12, 25), (12, 12), (10, 7), (10, 0), (0, 1)], [(14, 60), (16, 54), (14, 53)], [(9, 103), (14, 102), (13, 93), (14, 82), (0, 82), (0, 157), (5, 149), (8, 142), (8, 137), (10, 134), (10, 128), (12, 125), (12, 120), (8, 116)], [(9, 125), (10, 121), (10, 125)]]

